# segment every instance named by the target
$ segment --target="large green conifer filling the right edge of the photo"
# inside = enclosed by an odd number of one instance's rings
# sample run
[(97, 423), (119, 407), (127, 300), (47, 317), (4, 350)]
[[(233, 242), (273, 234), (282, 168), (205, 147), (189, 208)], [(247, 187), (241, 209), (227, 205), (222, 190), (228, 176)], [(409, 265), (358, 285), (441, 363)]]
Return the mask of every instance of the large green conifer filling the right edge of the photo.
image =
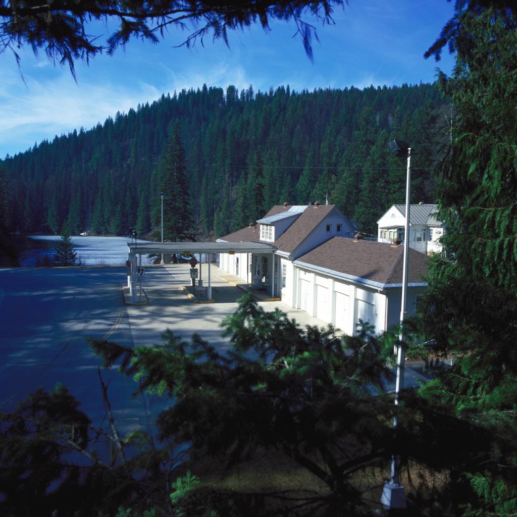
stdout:
[[(486, 461), (462, 469), (472, 486), (464, 515), (512, 515), (517, 512), (517, 11), (471, 10), (458, 2), (428, 53), (447, 41), (457, 57), (452, 76), (439, 77), (455, 113), (438, 178), (445, 253), (432, 260), (422, 328), (457, 358), (421, 393), (444, 413), (475, 422), (495, 442)], [(486, 452), (476, 448), (476, 454)]]

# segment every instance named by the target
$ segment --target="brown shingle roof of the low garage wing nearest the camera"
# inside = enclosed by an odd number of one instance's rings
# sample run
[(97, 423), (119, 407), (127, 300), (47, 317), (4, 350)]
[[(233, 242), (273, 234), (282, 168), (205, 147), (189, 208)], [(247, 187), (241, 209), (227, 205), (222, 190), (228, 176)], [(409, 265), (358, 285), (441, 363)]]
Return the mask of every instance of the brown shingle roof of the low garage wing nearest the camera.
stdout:
[[(333, 237), (295, 263), (303, 262), (380, 284), (401, 284), (403, 257), (403, 246)], [(428, 273), (428, 261), (427, 255), (409, 249), (408, 283), (422, 282), (422, 276)]]

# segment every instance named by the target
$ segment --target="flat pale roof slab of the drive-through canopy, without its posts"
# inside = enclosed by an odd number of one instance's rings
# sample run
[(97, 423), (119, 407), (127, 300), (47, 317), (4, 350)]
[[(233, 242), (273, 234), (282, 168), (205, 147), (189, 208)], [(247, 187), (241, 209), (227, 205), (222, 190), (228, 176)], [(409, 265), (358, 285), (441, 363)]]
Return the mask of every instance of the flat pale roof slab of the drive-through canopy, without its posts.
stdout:
[[(272, 253), (276, 246), (263, 242), (146, 242), (134, 244), (127, 242), (130, 253)], [(188, 253), (189, 252), (189, 253)]]

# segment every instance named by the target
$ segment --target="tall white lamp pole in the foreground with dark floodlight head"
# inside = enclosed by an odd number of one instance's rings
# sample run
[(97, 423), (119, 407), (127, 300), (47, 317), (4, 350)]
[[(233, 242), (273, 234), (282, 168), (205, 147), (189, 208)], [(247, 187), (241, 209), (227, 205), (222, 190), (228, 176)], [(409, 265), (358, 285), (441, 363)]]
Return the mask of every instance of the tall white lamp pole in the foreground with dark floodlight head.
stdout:
[[(411, 148), (405, 140), (395, 139), (388, 144), (393, 156), (407, 158), (406, 173), (406, 218), (404, 222), (404, 263), (402, 267), (402, 302), (400, 308), (400, 333), (397, 346), (397, 384), (395, 385), (395, 405), (399, 405), (400, 392), (404, 389), (404, 320), (407, 316), (407, 259), (409, 255), (409, 194), (411, 192)], [(393, 417), (393, 429), (397, 429), (397, 409)], [(390, 510), (406, 508), (404, 486), (400, 482), (400, 457), (391, 457), (391, 477), (385, 483), (381, 503)]]

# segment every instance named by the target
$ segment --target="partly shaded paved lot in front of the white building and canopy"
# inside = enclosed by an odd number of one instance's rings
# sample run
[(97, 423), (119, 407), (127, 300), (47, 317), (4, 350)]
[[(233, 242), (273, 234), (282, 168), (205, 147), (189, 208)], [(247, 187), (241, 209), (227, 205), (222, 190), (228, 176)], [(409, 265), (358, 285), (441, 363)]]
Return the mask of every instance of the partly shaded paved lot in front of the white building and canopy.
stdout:
[[(203, 266), (206, 282), (207, 270)], [(68, 387), (94, 424), (105, 417), (98, 379), (99, 358), (85, 338), (104, 338), (126, 346), (161, 343), (171, 329), (184, 339), (193, 332), (223, 350), (220, 323), (236, 309), (239, 288), (218, 279), (211, 269), (215, 303), (193, 303), (183, 292), (190, 283), (188, 265), (146, 267), (147, 306), (126, 306), (122, 287), (126, 268), (94, 266), (75, 268), (0, 269), (0, 411), (12, 410), (39, 386), (51, 389), (57, 382)], [(301, 325), (324, 325), (307, 313), (284, 303), (261, 302), (267, 310), (279, 308)], [(115, 369), (101, 369), (110, 382), (109, 397), (119, 426), (129, 431), (148, 426), (168, 404), (158, 398), (132, 393), (136, 385)], [(414, 382), (406, 369), (406, 385)], [(390, 387), (388, 387), (390, 389)]]

